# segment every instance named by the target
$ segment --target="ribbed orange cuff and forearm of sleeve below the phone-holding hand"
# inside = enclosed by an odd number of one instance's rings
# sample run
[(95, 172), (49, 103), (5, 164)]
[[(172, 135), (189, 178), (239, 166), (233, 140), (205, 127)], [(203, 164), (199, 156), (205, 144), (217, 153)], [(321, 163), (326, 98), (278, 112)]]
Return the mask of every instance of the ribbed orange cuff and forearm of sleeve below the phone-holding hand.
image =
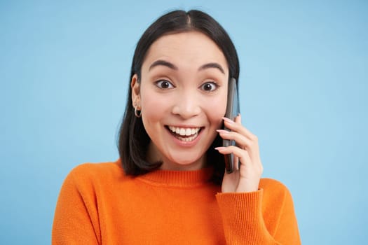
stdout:
[(274, 244), (261, 213), (263, 190), (218, 193), (227, 244)]

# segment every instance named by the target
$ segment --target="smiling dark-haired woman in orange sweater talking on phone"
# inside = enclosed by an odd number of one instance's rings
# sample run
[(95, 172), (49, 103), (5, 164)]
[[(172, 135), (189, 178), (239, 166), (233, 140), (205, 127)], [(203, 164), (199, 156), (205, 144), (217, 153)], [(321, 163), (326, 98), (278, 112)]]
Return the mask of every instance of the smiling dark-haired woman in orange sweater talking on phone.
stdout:
[(224, 118), (238, 76), (236, 49), (209, 15), (158, 18), (133, 57), (120, 159), (67, 176), (53, 244), (300, 244), (289, 191), (261, 179), (257, 137), (240, 116)]

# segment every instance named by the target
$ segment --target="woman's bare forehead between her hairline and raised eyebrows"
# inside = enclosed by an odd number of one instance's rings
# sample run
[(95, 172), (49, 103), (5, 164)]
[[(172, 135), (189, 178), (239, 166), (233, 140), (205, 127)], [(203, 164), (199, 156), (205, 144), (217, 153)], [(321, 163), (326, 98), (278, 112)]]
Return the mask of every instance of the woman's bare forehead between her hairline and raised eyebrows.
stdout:
[(161, 36), (152, 43), (144, 63), (151, 63), (162, 58), (178, 63), (218, 62), (227, 68), (226, 58), (219, 46), (199, 31), (185, 31)]

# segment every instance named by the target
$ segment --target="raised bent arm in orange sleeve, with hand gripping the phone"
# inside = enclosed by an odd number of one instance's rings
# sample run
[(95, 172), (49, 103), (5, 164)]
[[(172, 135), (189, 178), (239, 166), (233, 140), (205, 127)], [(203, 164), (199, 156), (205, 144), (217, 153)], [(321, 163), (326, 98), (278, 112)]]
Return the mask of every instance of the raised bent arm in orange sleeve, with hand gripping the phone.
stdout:
[[(222, 154), (236, 157), (234, 172), (224, 175), (217, 202), (228, 244), (300, 244), (292, 197), (277, 181), (260, 185), (263, 167), (257, 137), (241, 124), (224, 118), (231, 132), (217, 130), (236, 146), (218, 147)], [(238, 163), (239, 162), (239, 163)]]

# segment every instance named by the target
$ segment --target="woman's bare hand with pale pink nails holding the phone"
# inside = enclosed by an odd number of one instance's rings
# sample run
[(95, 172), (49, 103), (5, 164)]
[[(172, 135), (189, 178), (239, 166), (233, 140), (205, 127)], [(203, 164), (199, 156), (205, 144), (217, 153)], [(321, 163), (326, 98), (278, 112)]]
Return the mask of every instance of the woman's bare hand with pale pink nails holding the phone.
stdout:
[[(235, 122), (224, 118), (225, 126), (231, 130), (217, 130), (222, 139), (236, 141), (236, 146), (217, 147), (219, 153), (234, 155), (234, 171), (224, 175), (222, 193), (249, 193), (258, 190), (263, 172), (257, 136), (241, 124), (241, 116)], [(239, 164), (240, 162), (240, 164)]]

